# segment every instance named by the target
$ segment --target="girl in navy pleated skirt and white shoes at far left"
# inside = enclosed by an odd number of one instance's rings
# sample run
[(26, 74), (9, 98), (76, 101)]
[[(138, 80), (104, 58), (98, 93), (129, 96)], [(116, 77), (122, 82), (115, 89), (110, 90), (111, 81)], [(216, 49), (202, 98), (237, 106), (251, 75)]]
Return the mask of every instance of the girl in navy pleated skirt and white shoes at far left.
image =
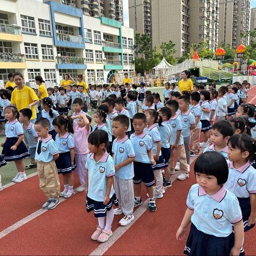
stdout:
[[(27, 179), (25, 173), (25, 163), (23, 158), (29, 156), (28, 149), (22, 141), (24, 138), (23, 129), (19, 123), (19, 112), (15, 106), (7, 106), (4, 110), (5, 119), (5, 141), (1, 144), (3, 147), (1, 156), (6, 162), (14, 161), (17, 168), (17, 175), (12, 179), (13, 182), (19, 183)], [(0, 159), (0, 162), (1, 159)]]

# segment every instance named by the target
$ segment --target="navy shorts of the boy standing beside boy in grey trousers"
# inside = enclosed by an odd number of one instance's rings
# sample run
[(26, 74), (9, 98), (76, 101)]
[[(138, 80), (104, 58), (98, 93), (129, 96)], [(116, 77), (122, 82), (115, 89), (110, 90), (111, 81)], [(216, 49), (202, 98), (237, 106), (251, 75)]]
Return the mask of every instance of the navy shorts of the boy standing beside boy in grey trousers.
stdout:
[(146, 187), (152, 187), (155, 184), (154, 172), (151, 164), (133, 162), (134, 177), (133, 183), (140, 184), (142, 181)]

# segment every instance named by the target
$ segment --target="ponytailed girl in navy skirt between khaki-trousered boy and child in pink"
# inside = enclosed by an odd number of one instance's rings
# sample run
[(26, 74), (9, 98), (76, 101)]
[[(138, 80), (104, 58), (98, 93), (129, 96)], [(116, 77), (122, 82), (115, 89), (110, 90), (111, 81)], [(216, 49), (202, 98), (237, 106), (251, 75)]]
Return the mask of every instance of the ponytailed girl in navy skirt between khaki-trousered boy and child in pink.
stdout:
[(75, 170), (75, 144), (70, 133), (74, 133), (73, 119), (69, 116), (58, 116), (53, 122), (55, 132), (55, 142), (58, 148), (59, 157), (55, 160), (58, 174), (63, 175), (64, 190), (60, 197), (69, 198), (74, 194), (74, 177), (72, 171)]

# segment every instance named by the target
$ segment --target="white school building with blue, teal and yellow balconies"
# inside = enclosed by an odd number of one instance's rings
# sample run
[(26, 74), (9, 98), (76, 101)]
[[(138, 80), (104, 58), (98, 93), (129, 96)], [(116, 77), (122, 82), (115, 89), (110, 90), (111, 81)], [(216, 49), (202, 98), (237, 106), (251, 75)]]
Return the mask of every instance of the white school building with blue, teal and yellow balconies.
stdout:
[(20, 71), (25, 82), (41, 75), (59, 84), (68, 73), (110, 83), (116, 73), (134, 73), (133, 45), (133, 29), (120, 21), (54, 1), (1, 0), (0, 80)]

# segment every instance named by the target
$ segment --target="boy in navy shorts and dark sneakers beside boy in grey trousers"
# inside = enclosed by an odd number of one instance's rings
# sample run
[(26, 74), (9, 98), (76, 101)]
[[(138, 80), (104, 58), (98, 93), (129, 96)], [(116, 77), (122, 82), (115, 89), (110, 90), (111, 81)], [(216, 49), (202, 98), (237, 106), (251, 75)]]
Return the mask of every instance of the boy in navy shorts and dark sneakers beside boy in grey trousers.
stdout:
[(147, 117), (145, 114), (137, 113), (133, 116), (132, 124), (135, 130), (130, 137), (135, 152), (135, 159), (133, 162), (134, 207), (142, 204), (141, 182), (143, 181), (149, 195), (149, 211), (155, 212), (156, 202), (153, 189), (155, 180), (151, 165), (155, 165), (156, 161), (154, 160), (151, 137), (144, 132), (144, 129), (147, 126)]

